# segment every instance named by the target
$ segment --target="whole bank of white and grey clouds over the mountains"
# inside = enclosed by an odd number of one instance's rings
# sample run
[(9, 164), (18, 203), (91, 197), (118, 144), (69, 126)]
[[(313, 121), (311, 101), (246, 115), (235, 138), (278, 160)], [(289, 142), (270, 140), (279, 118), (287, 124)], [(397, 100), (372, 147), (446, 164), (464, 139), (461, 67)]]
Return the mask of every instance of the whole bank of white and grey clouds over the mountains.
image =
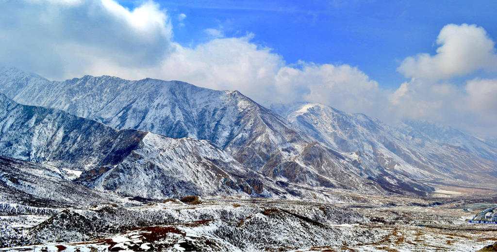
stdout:
[(494, 42), (475, 25), (445, 26), (437, 55), (407, 58), (399, 70), (416, 78), (389, 91), (348, 64), (287, 64), (252, 43), (253, 34), (227, 38), (222, 29), (207, 29), (209, 41), (181, 46), (153, 1), (130, 10), (113, 0), (6, 0), (0, 23), (0, 63), (49, 78), (174, 79), (239, 90), (263, 105), (319, 102), (384, 121), (431, 120), (489, 134), (497, 125), (496, 79), (474, 79), (465, 88), (437, 80), (494, 67)]

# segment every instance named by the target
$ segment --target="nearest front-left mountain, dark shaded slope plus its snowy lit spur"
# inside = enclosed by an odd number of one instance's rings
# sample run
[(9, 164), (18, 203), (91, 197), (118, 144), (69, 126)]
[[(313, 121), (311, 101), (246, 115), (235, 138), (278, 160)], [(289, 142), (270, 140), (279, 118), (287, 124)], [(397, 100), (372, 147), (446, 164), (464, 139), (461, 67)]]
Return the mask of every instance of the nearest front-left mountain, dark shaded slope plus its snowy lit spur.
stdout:
[(79, 170), (80, 184), (125, 196), (286, 193), (208, 141), (116, 130), (2, 94), (0, 128), (0, 155)]

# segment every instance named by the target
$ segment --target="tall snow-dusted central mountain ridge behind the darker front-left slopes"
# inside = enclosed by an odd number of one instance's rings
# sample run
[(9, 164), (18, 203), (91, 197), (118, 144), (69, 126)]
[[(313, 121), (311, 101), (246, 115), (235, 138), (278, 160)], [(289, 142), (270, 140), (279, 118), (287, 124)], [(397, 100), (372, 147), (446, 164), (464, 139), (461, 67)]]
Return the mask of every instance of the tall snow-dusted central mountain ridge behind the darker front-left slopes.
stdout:
[(328, 188), (379, 188), (368, 179), (379, 173), (364, 174), (347, 155), (316, 143), (238, 91), (111, 76), (48, 81), (14, 68), (0, 73), (0, 91), (19, 103), (61, 109), (118, 129), (209, 140), (245, 167), (275, 180)]

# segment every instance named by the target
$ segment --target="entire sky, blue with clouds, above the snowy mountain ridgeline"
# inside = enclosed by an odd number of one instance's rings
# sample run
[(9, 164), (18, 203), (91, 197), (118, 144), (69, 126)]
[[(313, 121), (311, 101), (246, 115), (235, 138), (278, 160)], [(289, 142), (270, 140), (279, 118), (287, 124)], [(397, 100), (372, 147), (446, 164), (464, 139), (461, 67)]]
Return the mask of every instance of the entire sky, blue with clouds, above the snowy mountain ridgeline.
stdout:
[(497, 137), (497, 1), (0, 0), (0, 64)]

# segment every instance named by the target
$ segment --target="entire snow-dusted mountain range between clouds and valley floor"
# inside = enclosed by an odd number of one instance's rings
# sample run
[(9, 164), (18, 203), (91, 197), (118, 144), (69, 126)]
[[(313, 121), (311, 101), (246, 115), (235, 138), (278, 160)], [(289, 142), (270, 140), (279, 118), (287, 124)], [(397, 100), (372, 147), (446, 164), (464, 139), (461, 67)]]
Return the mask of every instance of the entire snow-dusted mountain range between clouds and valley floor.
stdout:
[(426, 181), (497, 176), (497, 148), (462, 131), (389, 126), (320, 104), (277, 114), (238, 91), (149, 78), (50, 81), (8, 67), (0, 92), (1, 155), (64, 168), (79, 185), (119, 195), (425, 195), (434, 190)]

